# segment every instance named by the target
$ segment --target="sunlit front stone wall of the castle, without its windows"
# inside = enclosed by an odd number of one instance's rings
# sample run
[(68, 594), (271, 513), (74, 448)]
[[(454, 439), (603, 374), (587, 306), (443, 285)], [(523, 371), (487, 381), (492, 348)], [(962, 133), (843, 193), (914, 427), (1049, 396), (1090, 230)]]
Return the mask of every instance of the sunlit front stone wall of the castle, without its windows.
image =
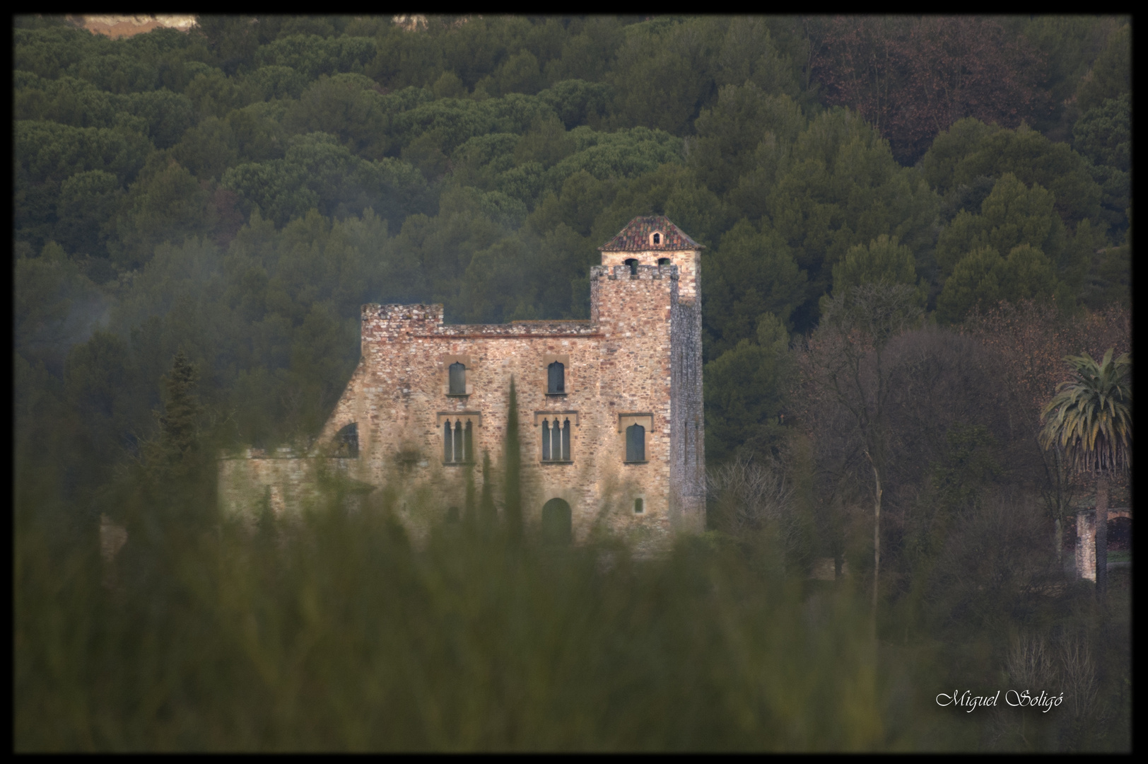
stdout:
[[(441, 306), (364, 306), (363, 356), (319, 442), (358, 424), (357, 479), (404, 486), (397, 506), (416, 537), (463, 507), (466, 472), (481, 487), (483, 450), (501, 468), (506, 399), (515, 380), (527, 532), (542, 504), (572, 509), (575, 541), (595, 532), (661, 546), (670, 522), (670, 327), (677, 269), (598, 267), (590, 322), (443, 325)], [(566, 364), (567, 393), (546, 393), (546, 368)], [(448, 394), (448, 366), (466, 365), (467, 394)], [(566, 412), (560, 414), (558, 412)], [(646, 461), (625, 463), (620, 415), (649, 415)], [(572, 424), (571, 462), (541, 461), (542, 419)], [(443, 460), (443, 420), (473, 426), (475, 465)], [(496, 472), (498, 470), (496, 469)], [(501, 474), (495, 476), (501, 497)], [(634, 514), (634, 500), (643, 512)]]

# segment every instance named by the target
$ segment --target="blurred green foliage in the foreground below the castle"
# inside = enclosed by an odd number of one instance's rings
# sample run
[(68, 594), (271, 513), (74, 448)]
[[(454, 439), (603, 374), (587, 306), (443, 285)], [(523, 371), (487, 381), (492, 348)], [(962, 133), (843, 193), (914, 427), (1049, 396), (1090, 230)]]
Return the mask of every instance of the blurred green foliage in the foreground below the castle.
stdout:
[[(416, 549), (385, 497), (210, 531), (179, 520), (187, 501), (154, 499), (172, 508), (155, 512), (163, 532), (138, 526), (113, 565), (42, 507), (17, 517), (17, 750), (1023, 749), (1069, 732), (1070, 747), (1112, 744), (1088, 738), (1114, 733), (1094, 673), (1076, 711), (939, 708), (955, 681), (1063, 682), (999, 673), (984, 633), (947, 658), (916, 631), (883, 627), (875, 648), (864, 592), (785, 579), (759, 564), (763, 547), (708, 534), (638, 561), (456, 524)], [(1091, 594), (1066, 600), (1083, 610), (1063, 620), (1097, 620)], [(1022, 664), (1044, 649), (1017, 645)], [(1078, 657), (1092, 671), (1102, 653)]]

